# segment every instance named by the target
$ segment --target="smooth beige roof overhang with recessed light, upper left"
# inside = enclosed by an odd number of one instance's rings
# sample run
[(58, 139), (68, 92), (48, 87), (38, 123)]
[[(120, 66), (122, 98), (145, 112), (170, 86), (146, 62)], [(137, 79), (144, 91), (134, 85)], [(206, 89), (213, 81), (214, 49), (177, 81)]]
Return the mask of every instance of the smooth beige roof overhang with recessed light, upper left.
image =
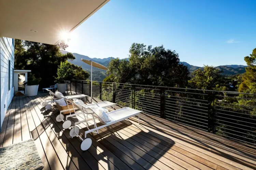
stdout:
[(54, 45), (61, 31), (72, 32), (108, 1), (3, 0), (0, 36)]

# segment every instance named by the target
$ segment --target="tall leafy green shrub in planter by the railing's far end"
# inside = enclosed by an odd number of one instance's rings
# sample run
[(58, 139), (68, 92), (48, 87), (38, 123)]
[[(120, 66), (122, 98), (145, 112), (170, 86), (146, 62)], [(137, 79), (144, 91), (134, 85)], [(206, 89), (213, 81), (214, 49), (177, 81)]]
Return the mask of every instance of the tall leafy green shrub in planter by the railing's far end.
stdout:
[(70, 67), (68, 66), (68, 62), (61, 62), (57, 70), (57, 77), (55, 77), (57, 89), (61, 93), (66, 92), (67, 83), (65, 83), (65, 81), (68, 79), (69, 72)]

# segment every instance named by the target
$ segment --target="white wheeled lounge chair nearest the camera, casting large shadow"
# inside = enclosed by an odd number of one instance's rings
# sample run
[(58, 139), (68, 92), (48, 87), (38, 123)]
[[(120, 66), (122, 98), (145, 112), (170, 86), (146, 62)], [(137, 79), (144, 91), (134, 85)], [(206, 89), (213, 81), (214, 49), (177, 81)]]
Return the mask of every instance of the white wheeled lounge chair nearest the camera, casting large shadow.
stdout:
[[(108, 112), (108, 115), (113, 119), (112, 121), (109, 121), (109, 122), (105, 122), (104, 120), (102, 120), (92, 109), (90, 109), (89, 107), (87, 106), (82, 106), (80, 104), (77, 104), (77, 103), (73, 103), (74, 105), (76, 105), (77, 107), (82, 107), (82, 111), (84, 113), (84, 116), (85, 117), (85, 120), (82, 120), (82, 121), (79, 121), (79, 122), (75, 122), (74, 124), (74, 127), (70, 130), (69, 132), (69, 135), (71, 137), (75, 137), (75, 136), (78, 136), (81, 140), (82, 140), (82, 143), (81, 143), (81, 150), (85, 151), (87, 149), (90, 148), (91, 146), (91, 143), (92, 143), (92, 140), (90, 138), (86, 138), (86, 135), (88, 133), (91, 133), (91, 132), (94, 132), (94, 133), (98, 133), (98, 130), (99, 129), (102, 129), (102, 128), (105, 128), (106, 126), (109, 126), (109, 125), (112, 125), (114, 123), (117, 123), (117, 122), (120, 122), (120, 121), (123, 121), (125, 119), (128, 119), (130, 117), (133, 117), (133, 116), (137, 116), (138, 115), (138, 122), (140, 123), (140, 113), (142, 111), (139, 111), (139, 110), (136, 110), (136, 109), (132, 109), (130, 107), (125, 107), (125, 108), (121, 108), (121, 109), (117, 109), (115, 111), (112, 111), (112, 112)], [(88, 115), (90, 115), (92, 118), (88, 119)], [(101, 126), (97, 126), (96, 124), (96, 121), (95, 121), (95, 118), (98, 118), (102, 123), (104, 123), (103, 125)], [(89, 120), (94, 120), (94, 129), (89, 129), (88, 127), (88, 121)], [(83, 122), (86, 122), (87, 124), (87, 128), (88, 128), (88, 131), (85, 131), (84, 133), (84, 136), (85, 136), (85, 139), (83, 139), (80, 135), (79, 135), (79, 132), (80, 132), (80, 129), (79, 127), (77, 126), (77, 124), (80, 124), (80, 123), (83, 123)]]

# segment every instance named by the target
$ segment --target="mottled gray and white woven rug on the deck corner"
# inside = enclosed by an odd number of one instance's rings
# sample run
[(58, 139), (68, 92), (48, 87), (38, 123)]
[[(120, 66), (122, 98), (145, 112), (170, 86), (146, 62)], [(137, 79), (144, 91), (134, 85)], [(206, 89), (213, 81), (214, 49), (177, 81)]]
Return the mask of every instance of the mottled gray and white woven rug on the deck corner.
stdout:
[(0, 148), (0, 169), (43, 169), (41, 158), (38, 154), (34, 140)]

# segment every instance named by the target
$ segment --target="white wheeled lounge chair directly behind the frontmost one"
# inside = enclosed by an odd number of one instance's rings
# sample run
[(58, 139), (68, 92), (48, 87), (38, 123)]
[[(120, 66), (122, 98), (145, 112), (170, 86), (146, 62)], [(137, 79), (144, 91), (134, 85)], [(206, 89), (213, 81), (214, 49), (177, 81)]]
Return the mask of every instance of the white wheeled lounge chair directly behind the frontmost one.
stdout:
[[(71, 126), (71, 121), (68, 120), (69, 117), (74, 117), (74, 116), (77, 116), (77, 115), (85, 115), (83, 113), (83, 107), (82, 105), (76, 105), (74, 104), (74, 102), (71, 100), (71, 99), (68, 99), (67, 97), (63, 97), (63, 99), (65, 99), (65, 101), (69, 104), (72, 104), (73, 108), (69, 108), (67, 110), (63, 110), (63, 111), (60, 111), (59, 115), (56, 117), (56, 121), (57, 122), (61, 122), (63, 121), (63, 124), (62, 124), (62, 128), (63, 129), (68, 129), (70, 128)], [(102, 107), (102, 108), (106, 108), (106, 107), (113, 107), (116, 103), (113, 103), (113, 102), (109, 102), (109, 101), (103, 101), (103, 102), (99, 102), (99, 103), (93, 103), (93, 104), (87, 104), (85, 105), (86, 107)], [(75, 110), (79, 109), (81, 112), (75, 112)], [(71, 110), (74, 111), (75, 114), (71, 114)], [(66, 120), (64, 120), (64, 115), (62, 114), (63, 112), (70, 112), (69, 115), (66, 116)], [(108, 109), (105, 109), (105, 112), (108, 112)], [(80, 122), (82, 123), (82, 122)], [(78, 123), (79, 124), (79, 123)]]

